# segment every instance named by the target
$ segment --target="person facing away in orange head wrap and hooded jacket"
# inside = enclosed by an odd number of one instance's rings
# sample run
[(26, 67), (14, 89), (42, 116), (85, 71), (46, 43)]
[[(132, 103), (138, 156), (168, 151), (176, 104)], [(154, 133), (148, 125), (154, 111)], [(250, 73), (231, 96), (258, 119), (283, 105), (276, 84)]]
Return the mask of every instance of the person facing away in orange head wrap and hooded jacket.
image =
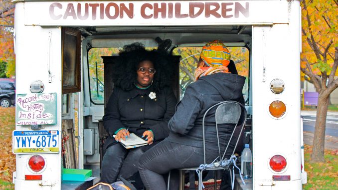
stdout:
[[(176, 112), (170, 119), (169, 137), (141, 156), (139, 172), (147, 190), (166, 190), (164, 176), (173, 169), (198, 167), (203, 164), (202, 119), (206, 110), (212, 105), (233, 100), (244, 105), (242, 88), (245, 77), (228, 71), (230, 52), (218, 40), (207, 43), (200, 53), (195, 71), (196, 81), (185, 91), (184, 97), (176, 106)], [(211, 163), (219, 155), (216, 129), (215, 109), (205, 117), (206, 163)], [(218, 126), (220, 146), (225, 147), (230, 139), (234, 125)], [(234, 143), (229, 145), (226, 155), (230, 156)], [(224, 151), (224, 150), (223, 150)], [(170, 175), (170, 179), (178, 178)]]

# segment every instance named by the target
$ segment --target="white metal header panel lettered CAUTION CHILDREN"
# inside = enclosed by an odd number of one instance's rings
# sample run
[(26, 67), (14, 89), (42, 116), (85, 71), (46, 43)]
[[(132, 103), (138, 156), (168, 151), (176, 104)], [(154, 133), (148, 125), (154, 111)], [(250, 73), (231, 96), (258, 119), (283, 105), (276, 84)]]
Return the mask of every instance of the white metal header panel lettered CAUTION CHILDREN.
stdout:
[[(111, 26), (111, 25), (249, 25), (287, 23), (287, 12), (284, 11), (288, 6), (287, 1), (279, 0), (217, 0), (211, 2), (216, 5), (215, 14), (205, 16), (205, 8), (202, 12), (196, 14), (199, 8), (194, 12), (189, 12), (189, 5), (196, 4), (196, 1), (26, 1), (25, 4), (25, 24), (28, 25), (73, 25), (73, 26)], [(89, 7), (89, 3), (95, 5), (95, 8)], [(100, 3), (100, 5), (99, 5)], [(102, 5), (101, 5), (102, 3)], [(203, 7), (210, 1), (198, 1)], [(224, 9), (228, 9), (226, 15), (222, 14), (222, 3), (229, 3)], [(159, 8), (165, 7), (166, 13), (159, 13), (155, 18), (154, 9), (156, 4)], [(247, 11), (239, 11), (236, 4), (242, 6)], [(88, 14), (85, 14), (85, 6), (88, 6)], [(122, 10), (122, 6), (130, 10), (130, 15)], [(172, 8), (169, 8), (172, 6)], [(35, 8), (38, 10), (35, 11)], [(78, 8), (80, 7), (80, 8)], [(102, 8), (101, 8), (102, 7)], [(117, 9), (115, 8), (117, 7)], [(118, 8), (120, 7), (120, 8)], [(215, 6), (211, 6), (211, 9)], [(231, 9), (231, 10), (230, 10)], [(78, 13), (81, 12), (81, 16)], [(236, 17), (236, 11), (238, 16)], [(144, 12), (144, 14), (142, 14)], [(116, 14), (116, 17), (115, 16)], [(171, 16), (169, 15), (171, 13)], [(196, 14), (192, 16), (191, 14)], [(198, 16), (197, 16), (198, 15)], [(215, 15), (215, 16), (214, 16)], [(230, 17), (227, 17), (230, 16)], [(111, 18), (109, 18), (111, 17)], [(113, 17), (113, 18), (112, 18)]]

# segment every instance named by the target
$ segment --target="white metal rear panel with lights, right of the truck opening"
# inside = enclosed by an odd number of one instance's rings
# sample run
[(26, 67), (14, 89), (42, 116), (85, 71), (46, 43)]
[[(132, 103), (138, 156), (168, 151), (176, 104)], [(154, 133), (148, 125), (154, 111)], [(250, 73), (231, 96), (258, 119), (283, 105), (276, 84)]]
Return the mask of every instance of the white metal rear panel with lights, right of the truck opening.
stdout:
[[(299, 1), (290, 2), (289, 24), (253, 26), (253, 180), (254, 190), (301, 190), (300, 143), (300, 20)], [(285, 90), (274, 94), (270, 82), (279, 78)], [(283, 119), (269, 116), (267, 105), (279, 99), (288, 109)], [(273, 172), (269, 160), (284, 155), (287, 169)], [(273, 175), (290, 175), (291, 181), (272, 181)]]

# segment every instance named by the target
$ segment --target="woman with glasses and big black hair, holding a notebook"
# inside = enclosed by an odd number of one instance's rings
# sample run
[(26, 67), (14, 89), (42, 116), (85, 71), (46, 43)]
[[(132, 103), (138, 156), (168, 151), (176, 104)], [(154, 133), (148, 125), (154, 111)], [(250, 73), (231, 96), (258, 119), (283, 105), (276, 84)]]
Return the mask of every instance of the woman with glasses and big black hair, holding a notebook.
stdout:
[[(141, 43), (120, 51), (113, 69), (114, 90), (103, 116), (109, 137), (103, 147), (101, 182), (112, 184), (120, 175), (132, 177), (140, 156), (169, 135), (168, 121), (176, 104), (169, 65), (167, 54), (148, 51)], [(119, 142), (128, 141), (131, 133), (149, 146), (125, 149)]]

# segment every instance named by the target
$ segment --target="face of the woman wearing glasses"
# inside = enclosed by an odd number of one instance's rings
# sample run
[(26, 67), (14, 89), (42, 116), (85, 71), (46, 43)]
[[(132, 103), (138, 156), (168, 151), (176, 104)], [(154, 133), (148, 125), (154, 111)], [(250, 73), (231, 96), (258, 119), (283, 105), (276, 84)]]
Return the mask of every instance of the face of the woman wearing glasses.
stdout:
[(136, 72), (137, 72), (136, 85), (138, 87), (144, 88), (152, 84), (155, 75), (155, 68), (153, 62), (149, 60), (141, 61), (138, 70)]

